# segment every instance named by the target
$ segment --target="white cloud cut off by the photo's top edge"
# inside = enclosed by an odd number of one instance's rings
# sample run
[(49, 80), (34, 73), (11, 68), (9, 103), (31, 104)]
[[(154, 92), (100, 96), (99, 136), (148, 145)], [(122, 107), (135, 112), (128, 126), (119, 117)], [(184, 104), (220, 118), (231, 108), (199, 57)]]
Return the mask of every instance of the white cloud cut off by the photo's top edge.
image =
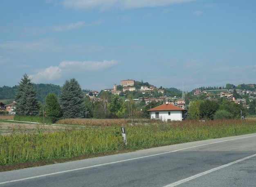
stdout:
[(100, 9), (103, 11), (111, 8), (136, 9), (163, 7), (193, 1), (198, 0), (63, 0), (63, 5), (73, 9)]

